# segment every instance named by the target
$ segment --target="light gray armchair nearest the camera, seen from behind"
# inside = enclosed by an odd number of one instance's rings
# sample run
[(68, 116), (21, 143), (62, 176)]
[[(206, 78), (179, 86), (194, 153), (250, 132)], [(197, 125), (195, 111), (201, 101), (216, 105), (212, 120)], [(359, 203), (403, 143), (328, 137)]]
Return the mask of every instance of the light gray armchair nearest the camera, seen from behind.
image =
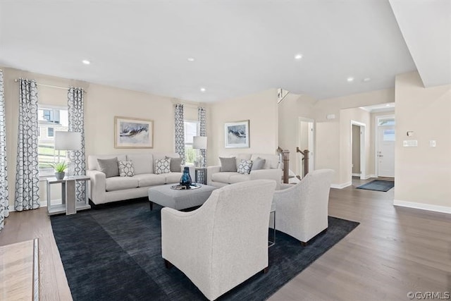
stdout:
[(190, 212), (161, 209), (161, 254), (215, 300), (268, 267), (274, 180), (219, 188)]

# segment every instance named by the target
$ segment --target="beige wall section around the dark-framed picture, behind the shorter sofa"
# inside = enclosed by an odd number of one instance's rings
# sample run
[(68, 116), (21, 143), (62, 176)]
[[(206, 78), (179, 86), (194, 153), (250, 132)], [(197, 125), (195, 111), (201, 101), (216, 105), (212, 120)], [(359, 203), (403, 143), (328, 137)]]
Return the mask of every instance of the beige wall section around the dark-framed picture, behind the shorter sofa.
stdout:
[[(278, 147), (277, 90), (265, 90), (210, 106), (209, 165), (218, 156), (237, 153), (276, 154)], [(224, 123), (249, 120), (249, 148), (226, 149)]]

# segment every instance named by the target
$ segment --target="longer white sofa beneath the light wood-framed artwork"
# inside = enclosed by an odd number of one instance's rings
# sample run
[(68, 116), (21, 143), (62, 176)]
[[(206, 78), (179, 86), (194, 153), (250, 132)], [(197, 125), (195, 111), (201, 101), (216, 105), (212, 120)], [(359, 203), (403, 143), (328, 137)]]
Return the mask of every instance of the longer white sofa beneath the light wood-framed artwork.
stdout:
[[(184, 166), (180, 166), (180, 172), (154, 173), (154, 160), (164, 159), (166, 156), (171, 158), (180, 157), (177, 153), (89, 155), (86, 175), (91, 178), (89, 183), (91, 201), (94, 204), (104, 204), (123, 199), (147, 197), (151, 186), (179, 183)], [(115, 157), (121, 161), (132, 161), (135, 168), (135, 176), (106, 178), (105, 173), (100, 171), (97, 159), (111, 159)], [(190, 175), (191, 177), (194, 176), (194, 168), (190, 168)]]

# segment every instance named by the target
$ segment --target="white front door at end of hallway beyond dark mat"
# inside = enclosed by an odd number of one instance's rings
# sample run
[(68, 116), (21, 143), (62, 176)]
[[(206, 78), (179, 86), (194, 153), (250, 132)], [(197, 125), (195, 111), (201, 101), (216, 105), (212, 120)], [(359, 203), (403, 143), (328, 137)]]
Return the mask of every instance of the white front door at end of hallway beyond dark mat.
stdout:
[(378, 176), (395, 178), (395, 127), (378, 127)]

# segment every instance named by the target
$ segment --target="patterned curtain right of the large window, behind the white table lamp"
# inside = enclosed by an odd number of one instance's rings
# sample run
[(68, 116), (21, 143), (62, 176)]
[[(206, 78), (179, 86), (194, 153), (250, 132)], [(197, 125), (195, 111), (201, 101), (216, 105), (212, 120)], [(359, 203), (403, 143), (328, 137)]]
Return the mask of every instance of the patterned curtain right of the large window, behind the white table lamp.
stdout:
[[(73, 176), (85, 176), (85, 113), (83, 109), (83, 89), (69, 87), (68, 90), (68, 118), (69, 132), (80, 132), (82, 135), (82, 147), (79, 150), (69, 152), (69, 159)], [(77, 182), (77, 202), (85, 202), (85, 181)]]

